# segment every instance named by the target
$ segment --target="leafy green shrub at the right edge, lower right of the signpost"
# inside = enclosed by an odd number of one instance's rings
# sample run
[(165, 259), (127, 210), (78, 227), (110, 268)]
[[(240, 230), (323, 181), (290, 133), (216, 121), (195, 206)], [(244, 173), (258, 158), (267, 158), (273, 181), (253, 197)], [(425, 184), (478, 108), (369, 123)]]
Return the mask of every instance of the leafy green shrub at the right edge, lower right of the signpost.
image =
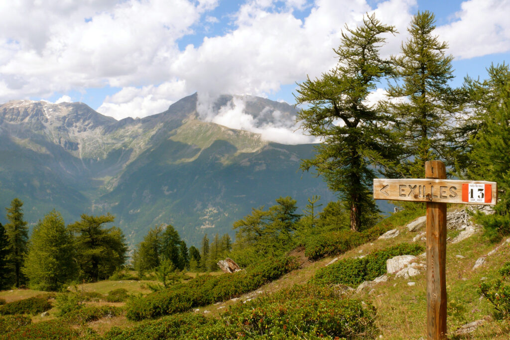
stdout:
[(480, 282), (477, 291), (494, 306), (496, 319), (510, 319), (510, 262), (503, 265), (499, 274), (501, 279)]

